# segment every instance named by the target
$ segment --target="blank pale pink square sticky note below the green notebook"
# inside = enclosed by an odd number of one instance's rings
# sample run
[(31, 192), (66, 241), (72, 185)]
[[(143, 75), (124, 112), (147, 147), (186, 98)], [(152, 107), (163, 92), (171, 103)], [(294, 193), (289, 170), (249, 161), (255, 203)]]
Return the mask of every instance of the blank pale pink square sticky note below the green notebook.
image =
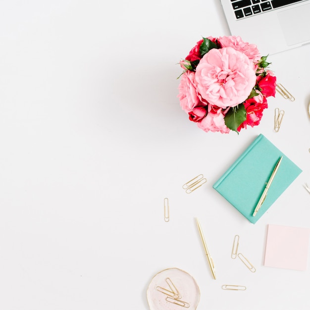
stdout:
[(309, 228), (268, 225), (264, 266), (306, 270)]

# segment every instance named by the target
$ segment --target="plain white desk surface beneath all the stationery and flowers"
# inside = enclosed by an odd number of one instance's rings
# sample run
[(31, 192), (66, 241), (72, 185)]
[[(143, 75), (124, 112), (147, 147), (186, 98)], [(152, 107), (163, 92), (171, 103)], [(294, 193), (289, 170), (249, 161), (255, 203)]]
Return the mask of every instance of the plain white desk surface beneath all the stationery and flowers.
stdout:
[[(205, 133), (179, 106), (176, 63), (229, 35), (218, 0), (46, 2), (0, 4), (0, 309), (149, 310), (152, 277), (177, 267), (200, 287), (198, 310), (308, 310), (310, 262), (263, 258), (268, 224), (310, 228), (310, 45), (269, 57), (294, 103), (276, 95), (259, 126)], [(212, 185), (259, 133), (303, 172), (253, 225)], [(235, 234), (256, 273), (230, 258)]]

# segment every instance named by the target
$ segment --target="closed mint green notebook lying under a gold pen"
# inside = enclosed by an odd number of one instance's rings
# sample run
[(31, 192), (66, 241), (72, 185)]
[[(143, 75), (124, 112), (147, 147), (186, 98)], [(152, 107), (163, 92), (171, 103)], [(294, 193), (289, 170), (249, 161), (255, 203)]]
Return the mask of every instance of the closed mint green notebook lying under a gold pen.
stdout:
[[(281, 155), (283, 155), (282, 162), (266, 199), (256, 216), (253, 216), (264, 186)], [(256, 223), (301, 172), (302, 170), (293, 161), (260, 134), (214, 183), (213, 188), (250, 222)]]

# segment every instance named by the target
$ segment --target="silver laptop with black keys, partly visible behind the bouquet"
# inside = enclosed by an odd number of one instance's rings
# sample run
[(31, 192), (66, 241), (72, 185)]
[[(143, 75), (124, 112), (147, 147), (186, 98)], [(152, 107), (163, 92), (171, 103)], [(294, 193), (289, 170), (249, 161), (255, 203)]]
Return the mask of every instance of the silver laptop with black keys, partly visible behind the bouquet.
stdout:
[(220, 0), (233, 36), (261, 55), (310, 43), (310, 0)]

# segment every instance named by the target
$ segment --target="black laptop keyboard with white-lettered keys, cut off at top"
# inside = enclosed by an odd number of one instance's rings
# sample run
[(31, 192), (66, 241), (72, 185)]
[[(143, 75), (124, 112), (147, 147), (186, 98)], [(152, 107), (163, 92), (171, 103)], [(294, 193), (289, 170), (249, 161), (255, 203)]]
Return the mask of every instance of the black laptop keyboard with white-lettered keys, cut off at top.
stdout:
[(237, 19), (304, 0), (231, 0)]

